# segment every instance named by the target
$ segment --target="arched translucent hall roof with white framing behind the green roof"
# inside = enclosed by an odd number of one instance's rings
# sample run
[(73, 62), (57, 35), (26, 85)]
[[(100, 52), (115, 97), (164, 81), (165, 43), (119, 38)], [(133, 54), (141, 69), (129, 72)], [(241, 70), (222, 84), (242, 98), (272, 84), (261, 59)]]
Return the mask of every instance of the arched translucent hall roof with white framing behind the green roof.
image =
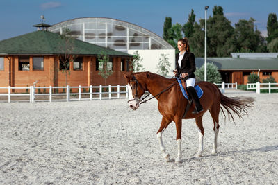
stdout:
[(72, 37), (116, 51), (174, 49), (155, 33), (117, 19), (83, 17), (54, 24), (47, 30), (54, 33), (62, 33), (63, 28), (69, 28)]

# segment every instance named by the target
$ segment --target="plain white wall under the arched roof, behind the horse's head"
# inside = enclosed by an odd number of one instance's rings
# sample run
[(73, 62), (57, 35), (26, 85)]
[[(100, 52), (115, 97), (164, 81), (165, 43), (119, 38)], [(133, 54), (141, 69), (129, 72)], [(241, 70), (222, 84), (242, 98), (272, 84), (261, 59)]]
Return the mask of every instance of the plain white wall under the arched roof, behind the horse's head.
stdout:
[(145, 71), (157, 73), (156, 66), (161, 58), (161, 54), (164, 53), (169, 58), (171, 64), (170, 76), (172, 76), (172, 70), (174, 69), (175, 51), (174, 49), (147, 49), (147, 50), (129, 50), (127, 53), (133, 55), (135, 51), (138, 51), (142, 58), (142, 65), (145, 67)]

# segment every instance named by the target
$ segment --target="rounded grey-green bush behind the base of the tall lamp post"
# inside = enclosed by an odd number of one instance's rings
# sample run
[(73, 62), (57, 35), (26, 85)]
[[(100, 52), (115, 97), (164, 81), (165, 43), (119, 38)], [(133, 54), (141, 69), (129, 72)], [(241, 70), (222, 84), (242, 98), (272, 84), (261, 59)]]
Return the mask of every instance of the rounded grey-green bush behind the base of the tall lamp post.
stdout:
[[(195, 71), (197, 80), (204, 81), (204, 64), (201, 68)], [(212, 83), (220, 83), (222, 80), (221, 74), (218, 71), (218, 67), (213, 63), (206, 64), (206, 81)]]

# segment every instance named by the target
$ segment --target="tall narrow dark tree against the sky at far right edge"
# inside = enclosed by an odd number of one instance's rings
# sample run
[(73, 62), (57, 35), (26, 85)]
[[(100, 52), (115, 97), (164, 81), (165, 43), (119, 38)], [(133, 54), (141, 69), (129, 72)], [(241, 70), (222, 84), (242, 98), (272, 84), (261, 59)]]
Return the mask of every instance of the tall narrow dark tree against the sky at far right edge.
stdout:
[(268, 37), (266, 40), (268, 43), (272, 41), (272, 39), (275, 39), (278, 37), (278, 21), (277, 21), (277, 15), (275, 13), (270, 13), (268, 15), (268, 24), (267, 24), (267, 30), (268, 30)]

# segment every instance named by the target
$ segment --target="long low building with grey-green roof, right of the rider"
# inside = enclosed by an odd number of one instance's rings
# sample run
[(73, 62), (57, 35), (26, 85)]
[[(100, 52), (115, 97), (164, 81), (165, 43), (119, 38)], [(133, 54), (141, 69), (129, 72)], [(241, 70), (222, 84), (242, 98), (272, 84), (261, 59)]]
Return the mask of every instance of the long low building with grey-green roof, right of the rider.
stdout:
[[(222, 81), (246, 85), (251, 73), (259, 75), (260, 80), (273, 76), (278, 82), (278, 53), (238, 53), (233, 58), (207, 58), (207, 63), (218, 67)], [(204, 58), (195, 58), (196, 66), (202, 67)]]

